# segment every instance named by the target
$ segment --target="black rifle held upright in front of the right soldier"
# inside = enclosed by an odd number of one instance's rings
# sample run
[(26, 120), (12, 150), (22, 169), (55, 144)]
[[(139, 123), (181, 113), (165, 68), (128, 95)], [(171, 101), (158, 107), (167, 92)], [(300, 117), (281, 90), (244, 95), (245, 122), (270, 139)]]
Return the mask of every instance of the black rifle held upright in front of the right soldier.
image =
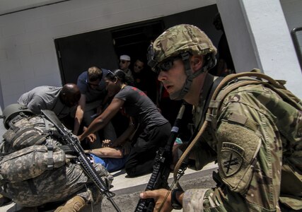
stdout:
[[(165, 144), (164, 148), (159, 148), (156, 152), (156, 158), (154, 159), (153, 172), (146, 186), (145, 191), (165, 188), (170, 190), (168, 185), (168, 177), (170, 175), (170, 165), (173, 159), (172, 148), (175, 139), (178, 136), (178, 130), (180, 127), (180, 121), (182, 115), (185, 112), (185, 104), (182, 104), (178, 117), (176, 117), (174, 125), (170, 132), (170, 137)], [(135, 212), (153, 211), (154, 199), (139, 199)]]

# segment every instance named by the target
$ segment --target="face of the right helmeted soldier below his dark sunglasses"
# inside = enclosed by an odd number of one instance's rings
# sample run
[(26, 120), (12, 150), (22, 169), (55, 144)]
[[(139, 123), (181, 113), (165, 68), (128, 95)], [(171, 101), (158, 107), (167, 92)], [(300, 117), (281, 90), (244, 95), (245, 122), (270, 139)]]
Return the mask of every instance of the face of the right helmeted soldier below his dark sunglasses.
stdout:
[(181, 59), (174, 60), (170, 69), (167, 71), (160, 71), (158, 74), (158, 81), (163, 83), (163, 86), (169, 95), (181, 90), (186, 79), (185, 66)]

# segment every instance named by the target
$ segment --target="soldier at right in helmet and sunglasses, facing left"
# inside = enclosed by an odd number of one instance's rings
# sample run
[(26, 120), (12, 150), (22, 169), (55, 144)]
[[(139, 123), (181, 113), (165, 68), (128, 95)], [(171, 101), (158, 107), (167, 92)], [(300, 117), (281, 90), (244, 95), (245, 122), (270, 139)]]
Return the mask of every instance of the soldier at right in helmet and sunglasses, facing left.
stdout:
[[(209, 37), (193, 25), (169, 28), (149, 49), (149, 65), (170, 98), (194, 106), (197, 130), (215, 80), (208, 73), (215, 54)], [(209, 124), (189, 155), (189, 165), (197, 170), (217, 161), (217, 187), (142, 192), (141, 199), (156, 201), (154, 211), (302, 210), (301, 100), (294, 107), (264, 83), (236, 87), (239, 81), (219, 91), (217, 99), (226, 94), (216, 102), (221, 103), (220, 109), (210, 104), (216, 114), (207, 114)], [(230, 86), (235, 88), (228, 90)]]

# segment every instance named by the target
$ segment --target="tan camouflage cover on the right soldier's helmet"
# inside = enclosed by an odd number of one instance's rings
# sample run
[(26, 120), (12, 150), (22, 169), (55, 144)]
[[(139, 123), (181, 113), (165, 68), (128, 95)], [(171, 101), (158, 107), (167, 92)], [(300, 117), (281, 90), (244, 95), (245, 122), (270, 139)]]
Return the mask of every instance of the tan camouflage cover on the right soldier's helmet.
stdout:
[(153, 42), (149, 49), (149, 66), (155, 68), (169, 57), (178, 56), (182, 52), (192, 55), (216, 54), (217, 50), (209, 37), (194, 25), (175, 25), (165, 30)]

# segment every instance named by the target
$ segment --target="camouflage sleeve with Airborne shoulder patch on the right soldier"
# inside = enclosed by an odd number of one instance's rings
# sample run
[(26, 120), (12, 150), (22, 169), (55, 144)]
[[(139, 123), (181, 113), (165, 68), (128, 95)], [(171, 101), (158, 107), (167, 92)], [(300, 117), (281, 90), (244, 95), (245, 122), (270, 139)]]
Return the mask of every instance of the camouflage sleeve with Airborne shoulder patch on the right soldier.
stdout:
[(273, 115), (279, 102), (262, 86), (238, 88), (226, 97), (216, 129), (221, 186), (186, 191), (184, 211), (200, 204), (205, 211), (279, 211), (284, 137)]

